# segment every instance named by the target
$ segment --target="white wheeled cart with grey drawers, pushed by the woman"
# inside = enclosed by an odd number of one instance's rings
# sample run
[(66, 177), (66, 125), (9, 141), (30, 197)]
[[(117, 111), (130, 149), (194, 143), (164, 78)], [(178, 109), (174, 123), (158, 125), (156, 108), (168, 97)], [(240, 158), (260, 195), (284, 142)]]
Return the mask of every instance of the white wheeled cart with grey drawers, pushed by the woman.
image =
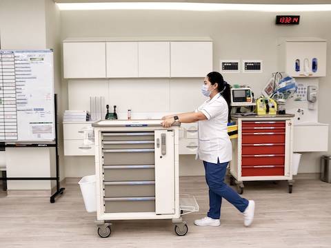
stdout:
[(181, 215), (199, 211), (194, 196), (179, 196), (179, 126), (161, 120), (98, 121), (94, 127), (98, 234), (111, 220), (171, 219), (183, 236)]

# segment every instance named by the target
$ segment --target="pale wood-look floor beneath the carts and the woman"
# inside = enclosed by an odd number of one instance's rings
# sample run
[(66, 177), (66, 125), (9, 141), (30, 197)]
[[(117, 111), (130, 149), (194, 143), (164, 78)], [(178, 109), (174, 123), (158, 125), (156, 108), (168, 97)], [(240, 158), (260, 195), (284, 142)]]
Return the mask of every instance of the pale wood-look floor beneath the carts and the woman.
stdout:
[(331, 184), (297, 180), (245, 183), (243, 196), (257, 203), (251, 227), (225, 200), (220, 227), (196, 227), (208, 211), (202, 177), (181, 178), (181, 192), (194, 194), (201, 210), (183, 218), (188, 234), (176, 236), (170, 220), (114, 221), (110, 238), (99, 238), (95, 214), (88, 214), (76, 184), (54, 204), (49, 198), (0, 194), (0, 247), (331, 247)]

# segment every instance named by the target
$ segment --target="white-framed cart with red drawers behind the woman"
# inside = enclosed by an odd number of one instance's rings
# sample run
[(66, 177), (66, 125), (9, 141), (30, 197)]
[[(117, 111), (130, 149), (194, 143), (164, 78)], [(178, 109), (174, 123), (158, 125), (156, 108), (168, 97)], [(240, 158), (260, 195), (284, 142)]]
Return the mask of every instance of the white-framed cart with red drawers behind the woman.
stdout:
[(293, 117), (232, 114), (238, 138), (232, 139), (230, 185), (237, 184), (239, 194), (244, 181), (255, 180), (287, 180), (292, 193)]

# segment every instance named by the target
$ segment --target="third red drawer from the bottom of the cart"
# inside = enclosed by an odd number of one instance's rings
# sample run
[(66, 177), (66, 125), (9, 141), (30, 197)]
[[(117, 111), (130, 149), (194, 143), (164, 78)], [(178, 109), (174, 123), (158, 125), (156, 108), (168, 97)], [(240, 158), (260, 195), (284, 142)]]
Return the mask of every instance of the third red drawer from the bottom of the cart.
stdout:
[(243, 144), (241, 154), (285, 154), (285, 144)]

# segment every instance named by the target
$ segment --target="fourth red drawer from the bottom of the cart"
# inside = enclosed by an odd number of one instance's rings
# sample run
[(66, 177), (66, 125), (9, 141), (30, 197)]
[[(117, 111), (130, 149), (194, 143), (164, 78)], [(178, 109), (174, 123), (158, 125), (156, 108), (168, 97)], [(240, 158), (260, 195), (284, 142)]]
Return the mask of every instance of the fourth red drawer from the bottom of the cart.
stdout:
[(254, 132), (241, 137), (243, 144), (285, 143), (285, 132)]

